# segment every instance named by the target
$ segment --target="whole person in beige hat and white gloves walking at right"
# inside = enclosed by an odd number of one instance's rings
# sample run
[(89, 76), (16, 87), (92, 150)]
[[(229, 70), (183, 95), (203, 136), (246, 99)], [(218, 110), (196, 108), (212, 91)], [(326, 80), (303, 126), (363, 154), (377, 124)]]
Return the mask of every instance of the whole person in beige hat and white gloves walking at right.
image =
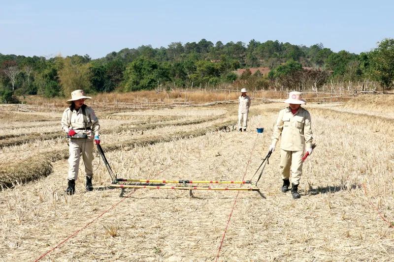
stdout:
[(290, 92), (289, 98), (284, 101), (289, 107), (282, 109), (276, 120), (270, 151), (275, 150), (276, 143), (281, 136), (280, 143), (280, 171), (283, 179), (281, 188), (283, 193), (289, 190), (290, 172), (292, 173), (292, 196), (300, 198), (298, 184), (302, 175), (302, 156), (304, 150), (312, 154), (312, 129), (309, 112), (301, 107), (306, 104), (300, 92)]

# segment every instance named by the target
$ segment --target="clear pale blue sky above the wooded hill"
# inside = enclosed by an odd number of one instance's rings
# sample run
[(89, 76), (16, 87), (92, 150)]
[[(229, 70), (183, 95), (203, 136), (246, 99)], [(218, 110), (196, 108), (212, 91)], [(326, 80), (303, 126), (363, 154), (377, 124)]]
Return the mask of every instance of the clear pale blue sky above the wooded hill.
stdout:
[(205, 38), (369, 51), (394, 37), (394, 1), (0, 0), (0, 53), (92, 58)]

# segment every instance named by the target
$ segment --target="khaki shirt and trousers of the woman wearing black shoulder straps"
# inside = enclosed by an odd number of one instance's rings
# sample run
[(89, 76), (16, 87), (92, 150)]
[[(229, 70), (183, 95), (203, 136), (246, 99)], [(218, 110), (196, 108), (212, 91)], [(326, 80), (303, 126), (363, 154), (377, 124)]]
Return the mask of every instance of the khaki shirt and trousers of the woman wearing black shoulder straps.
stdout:
[(62, 117), (62, 129), (68, 134), (70, 129), (73, 129), (77, 134), (88, 135), (87, 139), (84, 138), (70, 138), (69, 139), (69, 157), (68, 157), (68, 179), (77, 179), (79, 170), (79, 161), (82, 154), (82, 159), (85, 165), (86, 176), (93, 176), (93, 140), (94, 136), (99, 136), (100, 125), (99, 119), (95, 115), (92, 108), (86, 106), (86, 131), (85, 131), (85, 121), (83, 116), (83, 110), (80, 108), (78, 111), (67, 108), (63, 112)]

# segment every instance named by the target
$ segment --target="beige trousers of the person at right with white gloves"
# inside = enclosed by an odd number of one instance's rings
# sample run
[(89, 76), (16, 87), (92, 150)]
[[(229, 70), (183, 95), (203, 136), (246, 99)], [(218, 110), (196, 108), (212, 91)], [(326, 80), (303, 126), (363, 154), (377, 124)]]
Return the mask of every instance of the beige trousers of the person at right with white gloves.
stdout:
[(290, 171), (292, 172), (292, 183), (299, 184), (302, 175), (302, 156), (304, 151), (287, 151), (280, 149), (279, 169), (282, 173), (282, 179), (289, 179)]

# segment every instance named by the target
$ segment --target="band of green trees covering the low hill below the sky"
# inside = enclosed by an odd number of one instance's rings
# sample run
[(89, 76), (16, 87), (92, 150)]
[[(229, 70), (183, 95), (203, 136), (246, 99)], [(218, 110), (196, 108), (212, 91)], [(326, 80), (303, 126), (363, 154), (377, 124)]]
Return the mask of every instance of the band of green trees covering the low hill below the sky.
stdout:
[[(249, 69), (269, 67), (268, 75)], [(74, 89), (95, 92), (128, 92), (156, 87), (215, 86), (222, 83), (248, 87), (319, 88), (328, 79), (336, 82), (369, 79), (384, 88), (394, 86), (394, 39), (383, 39), (370, 52), (333, 52), (323, 44), (310, 47), (268, 40), (213, 44), (174, 42), (166, 48), (143, 45), (112, 52), (103, 58), (73, 55), (63, 58), (25, 57), (0, 53), (0, 102), (39, 94), (68, 96)]]

